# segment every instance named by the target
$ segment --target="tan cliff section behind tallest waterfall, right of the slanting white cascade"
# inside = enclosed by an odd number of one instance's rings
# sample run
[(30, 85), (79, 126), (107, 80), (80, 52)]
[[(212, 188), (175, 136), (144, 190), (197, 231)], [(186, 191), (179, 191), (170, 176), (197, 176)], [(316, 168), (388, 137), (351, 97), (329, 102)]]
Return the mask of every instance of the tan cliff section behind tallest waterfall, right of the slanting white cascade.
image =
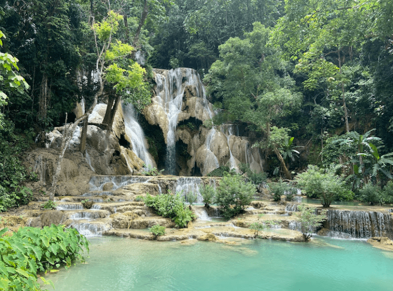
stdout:
[[(221, 165), (236, 169), (240, 162), (249, 163), (254, 172), (263, 171), (259, 150), (251, 149), (248, 138), (236, 134), (234, 126), (206, 126), (214, 112), (195, 70), (155, 73), (156, 96), (143, 114), (162, 131), (168, 174), (205, 176)], [(149, 135), (148, 127), (145, 134)]]

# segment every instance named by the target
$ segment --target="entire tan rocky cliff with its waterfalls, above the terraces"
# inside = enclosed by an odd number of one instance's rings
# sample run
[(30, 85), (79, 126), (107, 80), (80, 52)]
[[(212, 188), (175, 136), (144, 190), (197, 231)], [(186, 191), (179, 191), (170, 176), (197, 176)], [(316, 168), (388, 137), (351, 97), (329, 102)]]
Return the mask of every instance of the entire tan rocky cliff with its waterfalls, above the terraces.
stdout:
[[(133, 108), (121, 105), (111, 133), (96, 126), (88, 127), (84, 156), (77, 153), (81, 128), (77, 129), (70, 142), (69, 159), (65, 160), (64, 167), (78, 167), (71, 161), (80, 160), (95, 174), (129, 175), (140, 171), (146, 164), (159, 170), (165, 169), (166, 174), (205, 176), (221, 165), (237, 169), (242, 162), (250, 164), (254, 172), (263, 171), (264, 161), (259, 150), (251, 148), (248, 137), (241, 136), (241, 132), (232, 124), (212, 126), (212, 105), (195, 70), (155, 69), (155, 80), (156, 95), (140, 116), (144, 119), (144, 133)], [(78, 105), (75, 109), (77, 116), (83, 113), (82, 107)], [(97, 105), (89, 122), (100, 123), (105, 109), (105, 104)], [(63, 127), (59, 127), (47, 135), (47, 148), (59, 149), (62, 132)], [(150, 143), (153, 140), (156, 149), (162, 149), (161, 152), (156, 151), (154, 157), (148, 151), (144, 134)], [(161, 139), (157, 136), (161, 136)], [(38, 175), (47, 177), (48, 182), (52, 175), (49, 172), (53, 172), (49, 164), (54, 165), (56, 153), (48, 151), (48, 155), (44, 156), (44, 152), (37, 150), (29, 159), (35, 164), (34, 170)], [(43, 160), (47, 162), (39, 162)], [(71, 170), (64, 171), (62, 178), (68, 181), (67, 173)]]

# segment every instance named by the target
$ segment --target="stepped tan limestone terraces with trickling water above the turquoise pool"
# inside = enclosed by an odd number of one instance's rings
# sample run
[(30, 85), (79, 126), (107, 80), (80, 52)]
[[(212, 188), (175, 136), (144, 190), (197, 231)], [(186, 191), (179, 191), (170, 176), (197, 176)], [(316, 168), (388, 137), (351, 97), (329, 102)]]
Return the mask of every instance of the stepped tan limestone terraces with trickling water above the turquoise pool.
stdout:
[[(25, 213), (31, 226), (41, 227), (51, 223), (75, 227), (86, 236), (115, 235), (139, 239), (153, 239), (148, 228), (155, 224), (165, 226), (166, 235), (158, 240), (185, 240), (215, 237), (253, 238), (249, 229), (256, 220), (274, 221), (270, 229), (260, 232), (263, 238), (303, 241), (299, 232), (297, 202), (273, 202), (268, 196), (264, 200), (251, 202), (246, 212), (234, 219), (224, 221), (219, 209), (211, 206), (208, 210), (202, 204), (199, 187), (202, 184), (216, 185), (219, 180), (210, 177), (177, 176), (92, 176), (90, 191), (81, 196), (56, 197), (54, 211), (29, 210)], [(191, 205), (198, 219), (187, 228), (178, 229), (169, 218), (157, 216), (137, 196), (146, 193), (159, 195), (168, 192), (197, 193), (197, 204)], [(256, 197), (261, 199), (261, 197)], [(89, 201), (90, 209), (82, 202)], [(31, 204), (42, 202), (31, 202)], [(312, 206), (317, 206), (313, 204)], [(30, 207), (32, 209), (34, 207)], [(355, 211), (353, 211), (355, 209)], [(320, 234), (341, 238), (367, 239), (374, 236), (393, 238), (393, 210), (387, 207), (348, 207), (334, 205), (328, 211), (328, 220)], [(262, 216), (260, 216), (263, 214)], [(212, 236), (210, 235), (210, 238)]]

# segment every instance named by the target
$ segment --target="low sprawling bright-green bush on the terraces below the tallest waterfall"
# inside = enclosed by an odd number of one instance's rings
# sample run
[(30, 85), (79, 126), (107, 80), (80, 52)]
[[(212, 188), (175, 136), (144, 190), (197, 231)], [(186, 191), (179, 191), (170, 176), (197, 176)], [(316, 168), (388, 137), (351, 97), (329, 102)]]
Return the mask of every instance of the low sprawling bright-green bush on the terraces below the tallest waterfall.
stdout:
[(187, 227), (187, 223), (195, 219), (195, 214), (184, 205), (184, 200), (179, 193), (176, 195), (169, 193), (157, 196), (147, 194), (143, 200), (158, 215), (171, 218), (180, 228)]

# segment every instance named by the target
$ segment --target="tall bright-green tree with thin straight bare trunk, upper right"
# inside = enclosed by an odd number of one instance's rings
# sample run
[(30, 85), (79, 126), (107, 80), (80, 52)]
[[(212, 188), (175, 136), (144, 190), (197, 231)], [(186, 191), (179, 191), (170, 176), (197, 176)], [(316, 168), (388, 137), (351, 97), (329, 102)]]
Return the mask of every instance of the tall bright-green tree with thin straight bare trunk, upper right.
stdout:
[(367, 28), (357, 1), (317, 0), (287, 2), (272, 34), (286, 57), (299, 59), (296, 72), (304, 73), (303, 86), (316, 96), (324, 91), (326, 99), (341, 98), (346, 132), (350, 132), (343, 66), (352, 60)]

